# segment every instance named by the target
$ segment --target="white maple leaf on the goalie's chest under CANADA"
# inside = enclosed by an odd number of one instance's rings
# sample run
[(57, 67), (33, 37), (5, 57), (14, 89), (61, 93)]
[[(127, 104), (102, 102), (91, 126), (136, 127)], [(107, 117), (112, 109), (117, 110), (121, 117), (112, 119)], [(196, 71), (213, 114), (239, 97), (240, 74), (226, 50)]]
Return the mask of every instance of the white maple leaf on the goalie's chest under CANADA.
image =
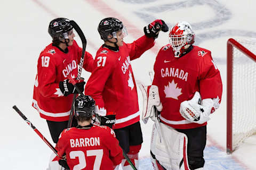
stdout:
[(164, 86), (164, 93), (166, 98), (173, 98), (178, 100), (178, 96), (182, 94), (181, 88), (177, 87), (177, 83), (172, 80), (172, 82), (168, 83), (167, 86)]

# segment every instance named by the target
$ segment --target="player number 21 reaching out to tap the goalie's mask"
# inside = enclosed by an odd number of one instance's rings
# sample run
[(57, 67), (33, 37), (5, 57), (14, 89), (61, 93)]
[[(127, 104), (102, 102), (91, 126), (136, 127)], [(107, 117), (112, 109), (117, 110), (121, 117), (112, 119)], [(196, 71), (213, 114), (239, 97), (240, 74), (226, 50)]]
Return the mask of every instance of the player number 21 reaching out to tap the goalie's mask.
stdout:
[[(136, 167), (142, 133), (131, 61), (154, 46), (161, 30), (167, 32), (167, 25), (163, 20), (155, 20), (144, 28), (146, 36), (126, 44), (123, 38), (127, 30), (121, 21), (116, 18), (101, 20), (98, 31), (104, 44), (95, 56), (95, 69), (85, 86), (85, 95), (95, 100), (100, 116), (116, 115), (113, 128), (116, 138)], [(132, 168), (125, 159), (121, 166), (124, 170)]]

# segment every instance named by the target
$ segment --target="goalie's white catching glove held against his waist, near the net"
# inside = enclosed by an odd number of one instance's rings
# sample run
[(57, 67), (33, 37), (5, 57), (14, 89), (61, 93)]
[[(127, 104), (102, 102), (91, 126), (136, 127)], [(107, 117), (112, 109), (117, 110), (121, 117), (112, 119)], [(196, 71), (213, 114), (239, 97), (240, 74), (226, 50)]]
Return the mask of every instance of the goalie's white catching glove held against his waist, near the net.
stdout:
[(203, 124), (210, 120), (209, 115), (219, 108), (219, 98), (201, 99), (198, 91), (191, 100), (183, 101), (180, 104), (180, 114), (186, 120)]

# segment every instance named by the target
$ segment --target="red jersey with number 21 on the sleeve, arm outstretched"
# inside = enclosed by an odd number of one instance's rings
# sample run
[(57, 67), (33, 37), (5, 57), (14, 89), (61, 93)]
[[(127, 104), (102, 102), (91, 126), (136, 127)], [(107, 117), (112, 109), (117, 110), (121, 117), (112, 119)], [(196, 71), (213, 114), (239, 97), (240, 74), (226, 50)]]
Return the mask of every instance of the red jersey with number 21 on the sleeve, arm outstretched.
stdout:
[(153, 38), (142, 36), (131, 44), (123, 43), (118, 52), (101, 46), (95, 56), (95, 69), (86, 83), (85, 95), (95, 100), (100, 115), (116, 114), (115, 129), (140, 120), (131, 60), (153, 46)]

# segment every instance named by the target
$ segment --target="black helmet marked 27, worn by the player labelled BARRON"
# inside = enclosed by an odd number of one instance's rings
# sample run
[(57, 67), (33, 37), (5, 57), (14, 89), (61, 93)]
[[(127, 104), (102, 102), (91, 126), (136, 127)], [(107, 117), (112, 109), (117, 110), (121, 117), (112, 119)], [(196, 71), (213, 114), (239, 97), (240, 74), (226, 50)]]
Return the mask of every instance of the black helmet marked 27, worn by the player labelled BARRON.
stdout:
[(78, 96), (73, 107), (76, 117), (92, 117), (95, 114), (95, 101), (91, 96)]

